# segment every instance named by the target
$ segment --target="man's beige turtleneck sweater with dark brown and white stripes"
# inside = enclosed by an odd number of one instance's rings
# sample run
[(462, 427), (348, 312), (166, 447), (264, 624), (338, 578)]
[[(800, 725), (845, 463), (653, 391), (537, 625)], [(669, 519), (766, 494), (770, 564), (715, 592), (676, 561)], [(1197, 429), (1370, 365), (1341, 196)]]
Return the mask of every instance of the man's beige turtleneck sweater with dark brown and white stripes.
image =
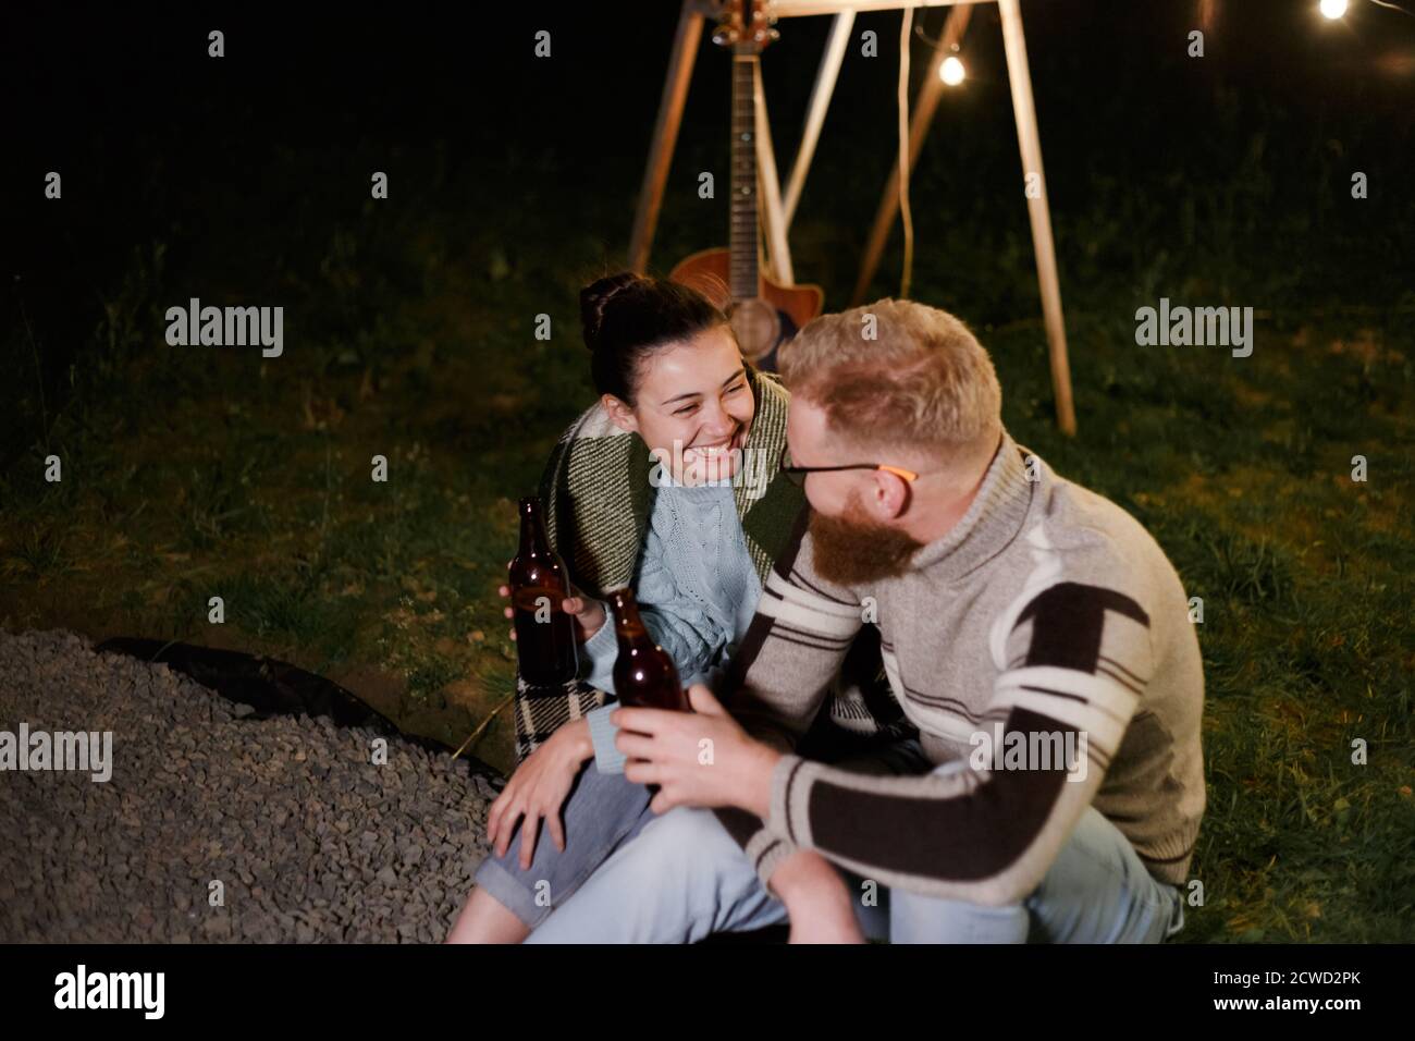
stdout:
[[(969, 511), (900, 578), (825, 581), (797, 525), (730, 701), (787, 752), (770, 819), (719, 810), (763, 880), (799, 847), (882, 885), (1012, 904), (1092, 803), (1150, 874), (1186, 878), (1204, 810), (1204, 680), (1184, 589), (1118, 506), (1040, 457), (1029, 480), (1032, 455), (1005, 433)], [(928, 759), (969, 759), (966, 769), (880, 776), (794, 752), (866, 618)], [(979, 734), (996, 759), (979, 761)], [(1030, 756), (1009, 763), (1009, 746)]]

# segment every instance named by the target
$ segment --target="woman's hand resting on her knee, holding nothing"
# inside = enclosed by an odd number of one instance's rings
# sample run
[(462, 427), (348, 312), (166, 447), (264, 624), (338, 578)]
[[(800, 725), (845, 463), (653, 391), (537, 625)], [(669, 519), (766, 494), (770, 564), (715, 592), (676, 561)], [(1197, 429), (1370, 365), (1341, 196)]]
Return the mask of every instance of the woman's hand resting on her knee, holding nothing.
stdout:
[(594, 742), (590, 741), (587, 719), (565, 724), (550, 735), (549, 741), (526, 756), (487, 812), (487, 841), (491, 843), (497, 857), (505, 855), (511, 846), (511, 833), (522, 817), (525, 817), (521, 826), (522, 871), (531, 867), (531, 858), (535, 855), (541, 817), (545, 817), (555, 848), (565, 851), (560, 807), (570, 795), (570, 785), (579, 775), (580, 766), (593, 758)]

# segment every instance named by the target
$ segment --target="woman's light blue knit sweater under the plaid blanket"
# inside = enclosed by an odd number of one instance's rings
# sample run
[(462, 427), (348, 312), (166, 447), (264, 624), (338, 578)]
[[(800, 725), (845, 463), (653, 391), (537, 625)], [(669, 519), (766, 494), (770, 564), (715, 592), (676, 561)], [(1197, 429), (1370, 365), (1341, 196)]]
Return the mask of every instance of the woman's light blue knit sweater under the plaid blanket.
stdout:
[[(705, 683), (715, 694), (727, 663), (747, 635), (761, 599), (761, 582), (747, 554), (732, 484), (662, 484), (654, 496), (648, 534), (634, 579), (644, 626), (674, 659), (683, 687)], [(614, 612), (580, 646), (586, 680), (614, 694)], [(618, 728), (608, 721), (618, 702), (586, 712), (601, 773), (623, 773), (624, 755), (614, 748)]]

